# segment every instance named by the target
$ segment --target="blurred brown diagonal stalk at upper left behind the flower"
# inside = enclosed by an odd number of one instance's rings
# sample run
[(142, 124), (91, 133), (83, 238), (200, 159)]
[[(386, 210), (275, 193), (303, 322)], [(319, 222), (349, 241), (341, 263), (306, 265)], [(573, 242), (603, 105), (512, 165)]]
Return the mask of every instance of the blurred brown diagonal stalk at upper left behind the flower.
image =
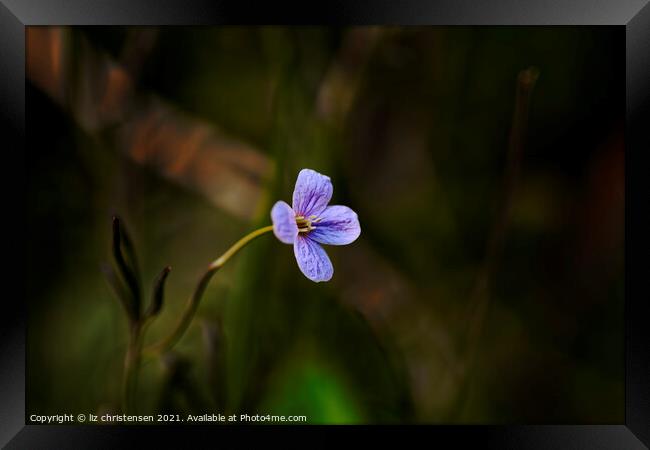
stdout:
[(137, 90), (155, 38), (152, 29), (131, 33), (115, 61), (76, 30), (28, 27), (27, 76), (85, 132), (110, 130), (116, 148), (133, 161), (250, 219), (271, 161), (242, 139)]

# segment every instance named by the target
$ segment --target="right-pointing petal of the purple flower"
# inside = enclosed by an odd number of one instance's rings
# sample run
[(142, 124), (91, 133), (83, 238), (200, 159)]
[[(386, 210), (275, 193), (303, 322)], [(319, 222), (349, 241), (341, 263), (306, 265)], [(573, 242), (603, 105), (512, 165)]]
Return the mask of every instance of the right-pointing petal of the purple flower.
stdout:
[(321, 220), (314, 223), (316, 229), (309, 237), (321, 244), (347, 245), (361, 234), (357, 213), (347, 206), (328, 206), (318, 217)]

